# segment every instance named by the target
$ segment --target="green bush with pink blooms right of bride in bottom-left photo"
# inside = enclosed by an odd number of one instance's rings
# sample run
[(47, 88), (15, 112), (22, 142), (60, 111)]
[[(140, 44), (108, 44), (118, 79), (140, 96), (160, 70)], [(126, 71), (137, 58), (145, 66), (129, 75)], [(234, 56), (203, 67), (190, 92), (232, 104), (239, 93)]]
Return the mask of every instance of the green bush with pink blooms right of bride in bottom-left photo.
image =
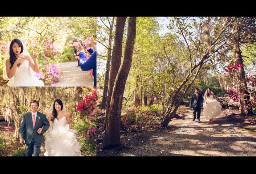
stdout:
[(96, 156), (96, 132), (88, 138), (88, 131), (96, 127), (96, 120), (90, 121), (88, 118), (77, 116), (73, 121), (74, 129), (79, 136), (81, 153), (84, 156)]

